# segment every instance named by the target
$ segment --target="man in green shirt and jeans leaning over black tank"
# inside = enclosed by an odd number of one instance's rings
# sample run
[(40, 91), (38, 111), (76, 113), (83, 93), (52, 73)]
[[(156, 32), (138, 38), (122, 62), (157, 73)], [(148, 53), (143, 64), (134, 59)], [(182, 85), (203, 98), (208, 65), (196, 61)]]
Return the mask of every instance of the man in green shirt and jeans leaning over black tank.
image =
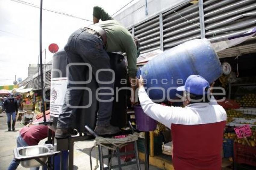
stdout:
[[(99, 14), (98, 16), (95, 16)], [(95, 7), (93, 16), (108, 16), (100, 7)], [(107, 17), (108, 18), (108, 17)], [(102, 19), (102, 18), (101, 18)], [(108, 18), (109, 19), (109, 18)], [(103, 19), (104, 20), (104, 19)], [(85, 64), (89, 64), (95, 76), (99, 90), (99, 108), (95, 133), (98, 135), (115, 134), (119, 128), (110, 124), (112, 114), (111, 90), (114, 88), (114, 75), (111, 71), (110, 58), (107, 52), (125, 52), (128, 61), (130, 82), (135, 82), (136, 58), (138, 50), (130, 32), (116, 20), (104, 20), (100, 23), (78, 29), (68, 39), (64, 50), (67, 53), (67, 65), (73, 65), (68, 70), (68, 84), (62, 113), (59, 115), (56, 138), (66, 138), (77, 132), (71, 127), (74, 111), (82, 98), (85, 84)], [(78, 65), (77, 63), (81, 63)], [(82, 66), (81, 66), (82, 65)], [(133, 83), (131, 83), (133, 84)], [(132, 86), (135, 91), (135, 86)], [(72, 90), (73, 89), (73, 90)], [(70, 107), (72, 106), (72, 107)]]

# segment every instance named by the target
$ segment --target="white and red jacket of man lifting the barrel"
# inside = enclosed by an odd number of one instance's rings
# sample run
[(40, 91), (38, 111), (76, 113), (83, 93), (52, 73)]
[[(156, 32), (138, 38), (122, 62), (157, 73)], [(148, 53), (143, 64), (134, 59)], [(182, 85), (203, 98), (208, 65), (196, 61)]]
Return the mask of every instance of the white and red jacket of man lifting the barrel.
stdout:
[(170, 107), (152, 102), (140, 88), (139, 101), (148, 116), (170, 127), (175, 170), (221, 169), (226, 111), (213, 96), (208, 103)]

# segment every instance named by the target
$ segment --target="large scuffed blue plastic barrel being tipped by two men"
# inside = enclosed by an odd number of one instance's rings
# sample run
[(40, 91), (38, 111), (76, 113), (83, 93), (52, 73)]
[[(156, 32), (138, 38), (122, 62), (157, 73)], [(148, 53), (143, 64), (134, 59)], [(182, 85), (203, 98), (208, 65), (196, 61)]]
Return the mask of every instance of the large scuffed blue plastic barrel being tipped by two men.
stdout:
[(151, 99), (167, 101), (176, 99), (175, 87), (183, 86), (192, 74), (209, 83), (222, 74), (219, 57), (207, 39), (187, 41), (164, 51), (141, 67), (137, 77), (142, 75)]

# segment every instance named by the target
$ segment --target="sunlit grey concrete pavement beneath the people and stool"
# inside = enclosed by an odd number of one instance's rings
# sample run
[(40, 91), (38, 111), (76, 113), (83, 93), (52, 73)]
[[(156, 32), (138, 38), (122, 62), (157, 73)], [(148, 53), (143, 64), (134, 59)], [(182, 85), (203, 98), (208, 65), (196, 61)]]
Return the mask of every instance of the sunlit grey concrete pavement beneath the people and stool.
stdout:
[[(16, 137), (19, 134), (19, 130), (23, 127), (19, 121), (16, 122), (15, 132), (7, 131), (7, 117), (5, 113), (0, 114), (0, 170), (6, 170), (13, 159), (13, 149), (17, 147)], [(46, 140), (46, 139), (45, 139)], [(44, 144), (45, 140), (40, 141), (39, 144)], [(89, 150), (94, 145), (94, 141), (79, 141), (74, 143), (74, 170), (90, 170), (89, 162)], [(103, 150), (104, 153), (107, 150)], [(92, 166), (93, 169), (96, 165), (96, 157), (98, 156), (98, 150), (94, 149), (92, 152)], [(117, 164), (117, 159), (113, 158), (112, 165)], [(18, 166), (17, 170), (24, 170), (29, 168), (23, 168)], [(40, 168), (41, 169), (41, 168)], [(97, 168), (99, 169), (99, 168)], [(136, 170), (136, 164), (122, 168), (123, 170)], [(144, 170), (144, 164), (141, 165), (141, 169)], [(150, 166), (150, 170), (159, 170), (154, 166)]]

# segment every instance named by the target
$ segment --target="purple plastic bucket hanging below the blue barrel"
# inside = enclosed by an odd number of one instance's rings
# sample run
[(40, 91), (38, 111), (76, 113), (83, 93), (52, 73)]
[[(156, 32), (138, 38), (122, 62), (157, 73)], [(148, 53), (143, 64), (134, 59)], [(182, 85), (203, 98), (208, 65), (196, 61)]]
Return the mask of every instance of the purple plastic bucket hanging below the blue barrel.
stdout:
[(142, 132), (149, 132), (156, 129), (157, 121), (144, 113), (141, 106), (134, 106), (137, 129)]

